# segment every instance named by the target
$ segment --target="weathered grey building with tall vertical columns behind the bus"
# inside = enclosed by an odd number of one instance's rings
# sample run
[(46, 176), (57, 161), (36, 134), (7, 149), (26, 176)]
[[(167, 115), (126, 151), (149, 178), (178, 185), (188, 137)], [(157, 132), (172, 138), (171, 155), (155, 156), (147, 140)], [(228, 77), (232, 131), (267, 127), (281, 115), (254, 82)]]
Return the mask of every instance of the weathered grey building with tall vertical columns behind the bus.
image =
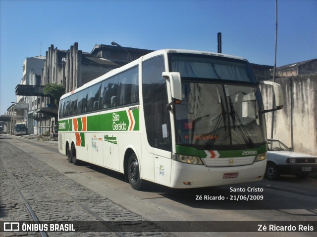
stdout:
[[(127, 51), (128, 50), (128, 54)], [(43, 88), (47, 84), (61, 84), (65, 93), (98, 78), (107, 72), (125, 65), (152, 50), (137, 48), (120, 48), (112, 45), (95, 45), (91, 53), (82, 52), (75, 42), (70, 49), (60, 50), (52, 44), (46, 56), (41, 56), (41, 71), (32, 71), (32, 82), (19, 84), (16, 95), (29, 101), (29, 134), (54, 133), (57, 131), (57, 108)], [(45, 58), (45, 60), (44, 60)], [(41, 76), (40, 76), (41, 75)], [(41, 77), (41, 79), (39, 79)], [(29, 79), (28, 79), (29, 80)], [(30, 80), (31, 81), (31, 80)], [(41, 83), (39, 84), (39, 82)], [(28, 87), (26, 85), (34, 85)]]

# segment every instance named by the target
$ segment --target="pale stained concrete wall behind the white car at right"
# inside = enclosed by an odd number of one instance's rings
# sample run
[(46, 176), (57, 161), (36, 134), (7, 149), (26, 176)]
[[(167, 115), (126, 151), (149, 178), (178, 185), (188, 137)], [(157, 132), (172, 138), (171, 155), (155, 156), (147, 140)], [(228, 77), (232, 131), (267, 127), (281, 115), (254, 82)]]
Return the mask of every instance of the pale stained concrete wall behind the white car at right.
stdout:
[[(295, 152), (317, 156), (317, 74), (306, 74), (276, 79), (284, 92), (284, 108), (267, 113), (267, 137), (280, 139)], [(269, 88), (262, 90), (264, 108), (272, 101)]]

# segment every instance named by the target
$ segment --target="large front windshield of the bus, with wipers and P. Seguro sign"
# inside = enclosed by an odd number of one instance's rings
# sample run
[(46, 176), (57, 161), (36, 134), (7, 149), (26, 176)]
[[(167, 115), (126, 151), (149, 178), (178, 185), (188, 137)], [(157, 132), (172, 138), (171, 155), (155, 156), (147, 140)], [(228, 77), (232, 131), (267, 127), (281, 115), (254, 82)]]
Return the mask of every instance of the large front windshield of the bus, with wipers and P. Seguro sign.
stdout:
[(224, 58), (213, 64), (213, 57), (202, 56), (171, 57), (171, 70), (182, 77), (182, 101), (175, 105), (176, 143), (204, 150), (263, 145), (261, 96), (249, 63)]

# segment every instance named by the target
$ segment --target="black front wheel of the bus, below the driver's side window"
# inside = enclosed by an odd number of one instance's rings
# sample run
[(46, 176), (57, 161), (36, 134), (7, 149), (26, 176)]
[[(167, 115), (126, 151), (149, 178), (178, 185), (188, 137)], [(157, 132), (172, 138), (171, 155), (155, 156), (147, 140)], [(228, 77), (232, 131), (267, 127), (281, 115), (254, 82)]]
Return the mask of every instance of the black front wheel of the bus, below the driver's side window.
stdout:
[(135, 190), (141, 190), (144, 187), (144, 181), (140, 178), (139, 161), (135, 153), (129, 157), (127, 173), (131, 187)]

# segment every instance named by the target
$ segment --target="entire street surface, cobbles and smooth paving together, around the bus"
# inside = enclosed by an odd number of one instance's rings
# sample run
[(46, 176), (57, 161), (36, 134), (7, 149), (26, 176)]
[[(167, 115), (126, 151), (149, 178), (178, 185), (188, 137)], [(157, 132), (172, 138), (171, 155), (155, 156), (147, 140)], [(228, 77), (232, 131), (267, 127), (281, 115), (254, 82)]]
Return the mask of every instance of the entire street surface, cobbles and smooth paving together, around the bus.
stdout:
[[(90, 231), (96, 228), (93, 226), (95, 223), (103, 222), (111, 223), (124, 236), (162, 237), (190, 237), (193, 233), (167, 233), (153, 222), (182, 221), (184, 228), (188, 227), (186, 223), (194, 224), (191, 228), (198, 229), (195, 236), (204, 237), (231, 237), (237, 233), (202, 233), (198, 226), (201, 221), (216, 224), (229, 221), (228, 228), (233, 228), (233, 223), (237, 221), (317, 222), (315, 176), (304, 180), (295, 176), (282, 176), (279, 181), (264, 179), (256, 183), (193, 190), (175, 190), (152, 184), (145, 191), (135, 191), (122, 174), (87, 163), (80, 166), (68, 163), (66, 157), (58, 153), (56, 141), (44, 142), (28, 139), (27, 136), (1, 134), (0, 150), (0, 221), (32, 221), (25, 203), (17, 193), (19, 189), (41, 223), (75, 221), (77, 230), (80, 223), (81, 233), (47, 232), (48, 236), (115, 236), (116, 233), (105, 226), (100, 232)], [(244, 189), (246, 191), (242, 191)], [(248, 189), (252, 191), (248, 192)], [(248, 194), (260, 199), (231, 200), (231, 197)], [(200, 196), (204, 197), (203, 200), (199, 200)], [(223, 196), (228, 199), (207, 200), (205, 196)], [(149, 232), (128, 232), (125, 221), (138, 221), (141, 224), (139, 229)], [(191, 221), (194, 223), (189, 223)], [(138, 228), (138, 225), (135, 227)], [(39, 236), (39, 233), (32, 231), (5, 232), (0, 233), (0, 236), (2, 234)], [(243, 233), (245, 237), (270, 237), (272, 234)], [(315, 234), (278, 233), (280, 237), (312, 237)]]

